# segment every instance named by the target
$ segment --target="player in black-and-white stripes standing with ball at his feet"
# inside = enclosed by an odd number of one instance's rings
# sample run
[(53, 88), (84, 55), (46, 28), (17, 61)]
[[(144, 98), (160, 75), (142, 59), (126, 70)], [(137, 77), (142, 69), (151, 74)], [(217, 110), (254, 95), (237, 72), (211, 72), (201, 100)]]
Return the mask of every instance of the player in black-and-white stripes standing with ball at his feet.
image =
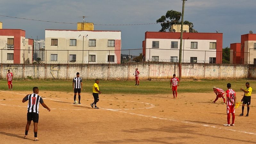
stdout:
[(83, 89), (82, 78), (79, 77), (80, 74), (77, 72), (77, 76), (73, 79), (73, 90), (74, 90), (74, 101), (76, 101), (77, 93), (78, 93), (78, 104), (80, 103), (81, 99), (81, 89)]

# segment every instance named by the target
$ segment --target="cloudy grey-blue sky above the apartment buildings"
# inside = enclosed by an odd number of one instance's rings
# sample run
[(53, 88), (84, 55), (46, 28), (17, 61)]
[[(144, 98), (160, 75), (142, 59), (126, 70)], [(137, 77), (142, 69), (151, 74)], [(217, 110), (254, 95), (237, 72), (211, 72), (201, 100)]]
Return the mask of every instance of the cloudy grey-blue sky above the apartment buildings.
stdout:
[[(87, 22), (94, 30), (121, 31), (122, 54), (128, 49), (142, 48), (146, 31), (159, 31), (160, 24), (101, 26), (97, 24), (156, 23), (168, 10), (182, 11), (182, 0), (0, 0), (0, 15), (56, 22)], [(184, 20), (194, 24), (198, 32), (223, 33), (223, 48), (240, 43), (241, 35), (256, 33), (255, 0), (187, 0)], [(77, 28), (76, 24), (49, 23), (0, 16), (3, 28), (22, 29), (26, 38), (45, 39), (45, 29)], [(130, 50), (139, 55), (141, 50)]]

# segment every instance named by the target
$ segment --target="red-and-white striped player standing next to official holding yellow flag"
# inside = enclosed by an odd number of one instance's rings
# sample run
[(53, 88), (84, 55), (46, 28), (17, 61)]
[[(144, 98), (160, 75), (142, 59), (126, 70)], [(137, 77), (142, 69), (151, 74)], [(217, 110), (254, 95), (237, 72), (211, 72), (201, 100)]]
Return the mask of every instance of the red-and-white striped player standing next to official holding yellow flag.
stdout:
[[(231, 89), (231, 84), (227, 84), (227, 124), (223, 124), (224, 126), (235, 126), (235, 102), (236, 96), (235, 91)], [(232, 114), (232, 124), (230, 124), (230, 113)]]

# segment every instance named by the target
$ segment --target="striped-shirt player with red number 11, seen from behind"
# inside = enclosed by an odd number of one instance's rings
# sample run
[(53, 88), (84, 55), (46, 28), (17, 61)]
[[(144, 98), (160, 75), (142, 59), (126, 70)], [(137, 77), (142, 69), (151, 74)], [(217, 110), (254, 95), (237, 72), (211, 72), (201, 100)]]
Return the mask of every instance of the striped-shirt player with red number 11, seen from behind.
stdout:
[(38, 115), (39, 114), (39, 103), (41, 103), (41, 105), (44, 108), (46, 108), (48, 111), (51, 111), (51, 109), (45, 105), (43, 99), (39, 95), (37, 95), (38, 92), (39, 92), (38, 87), (33, 87), (33, 93), (26, 95), (22, 100), (22, 102), (26, 102), (27, 100), (29, 100), (28, 113), (27, 113), (27, 125), (26, 125), (24, 139), (28, 138), (29, 126), (31, 124), (31, 121), (33, 120), (34, 136), (35, 136), (34, 141), (39, 140), (37, 138), (37, 124), (38, 124), (38, 119), (39, 119), (39, 115)]

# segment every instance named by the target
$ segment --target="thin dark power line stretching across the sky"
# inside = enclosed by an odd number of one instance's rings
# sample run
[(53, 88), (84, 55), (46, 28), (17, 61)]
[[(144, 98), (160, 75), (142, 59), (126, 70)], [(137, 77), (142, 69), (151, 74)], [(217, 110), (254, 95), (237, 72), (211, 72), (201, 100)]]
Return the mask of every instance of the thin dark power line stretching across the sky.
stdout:
[[(15, 18), (15, 19), (22, 19), (22, 20), (34, 20), (34, 21), (42, 21), (42, 22), (52, 22), (52, 23), (62, 23), (62, 24), (77, 24), (77, 23), (68, 23), (68, 22), (57, 22), (57, 21), (48, 21), (48, 20), (35, 20), (35, 19), (26, 19), (26, 18), (19, 18), (19, 17), (12, 17), (7, 15), (0, 15), (3, 17), (8, 18)], [(161, 23), (173, 23), (177, 21), (168, 21), (168, 22), (161, 22)], [(153, 24), (161, 24), (161, 23), (141, 23), (141, 24), (94, 24), (99, 26), (133, 26), (133, 25), (153, 25)]]

